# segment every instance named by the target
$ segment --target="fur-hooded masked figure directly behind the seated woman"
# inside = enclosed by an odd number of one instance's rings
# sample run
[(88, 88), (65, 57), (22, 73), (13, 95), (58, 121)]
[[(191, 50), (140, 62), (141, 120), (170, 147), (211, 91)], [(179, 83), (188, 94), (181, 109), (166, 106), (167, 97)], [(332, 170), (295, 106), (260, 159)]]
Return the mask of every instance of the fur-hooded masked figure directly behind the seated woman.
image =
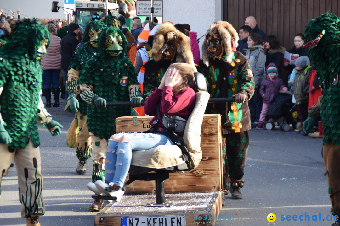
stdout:
[(150, 96), (159, 86), (165, 71), (172, 63), (188, 63), (195, 65), (190, 47), (190, 38), (177, 30), (171, 22), (161, 24), (154, 37), (152, 56), (144, 64), (145, 74), (143, 94)]

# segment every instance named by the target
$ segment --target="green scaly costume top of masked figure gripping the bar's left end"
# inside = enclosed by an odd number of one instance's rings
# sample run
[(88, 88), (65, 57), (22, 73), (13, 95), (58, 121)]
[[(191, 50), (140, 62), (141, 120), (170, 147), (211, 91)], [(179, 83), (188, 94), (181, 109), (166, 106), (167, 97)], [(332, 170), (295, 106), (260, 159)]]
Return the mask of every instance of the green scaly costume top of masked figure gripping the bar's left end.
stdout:
[[(128, 84), (125, 86), (120, 84), (123, 76), (128, 77)], [(92, 85), (96, 96), (110, 102), (129, 101), (128, 86), (138, 84), (138, 81), (131, 61), (125, 55), (120, 55), (107, 57), (105, 60), (99, 57), (90, 59), (80, 72), (79, 83)], [(111, 127), (115, 126), (115, 119), (121, 116), (130, 116), (132, 112), (133, 109), (130, 106), (107, 107), (107, 109), (99, 110), (94, 104), (89, 104), (87, 128), (96, 137), (109, 139), (112, 135)]]

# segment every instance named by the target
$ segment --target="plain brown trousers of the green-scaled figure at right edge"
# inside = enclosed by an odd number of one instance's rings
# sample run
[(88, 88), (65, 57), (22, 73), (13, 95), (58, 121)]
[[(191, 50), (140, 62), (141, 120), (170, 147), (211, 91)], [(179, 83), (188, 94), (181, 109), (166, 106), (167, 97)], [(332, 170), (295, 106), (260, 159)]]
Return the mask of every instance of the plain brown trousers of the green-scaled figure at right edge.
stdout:
[(323, 160), (328, 178), (328, 193), (333, 215), (340, 214), (340, 146), (331, 142), (323, 146)]

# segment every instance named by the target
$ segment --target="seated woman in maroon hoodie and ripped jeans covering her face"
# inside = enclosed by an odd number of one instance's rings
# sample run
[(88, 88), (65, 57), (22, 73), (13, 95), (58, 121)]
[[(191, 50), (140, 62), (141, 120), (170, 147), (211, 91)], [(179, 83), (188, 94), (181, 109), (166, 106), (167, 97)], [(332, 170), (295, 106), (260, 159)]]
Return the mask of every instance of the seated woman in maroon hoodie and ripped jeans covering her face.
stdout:
[[(187, 120), (195, 105), (194, 67), (187, 63), (169, 66), (158, 88), (147, 98), (144, 110), (148, 115), (158, 115), (150, 121), (154, 127), (166, 128), (163, 115), (176, 115)], [(155, 122), (155, 123), (154, 123)], [(177, 132), (183, 136), (182, 132)], [(119, 202), (124, 194), (123, 185), (132, 160), (132, 151), (148, 150), (159, 145), (174, 145), (170, 138), (160, 133), (118, 133), (111, 136), (106, 149), (105, 182), (88, 183), (96, 194), (116, 197)]]

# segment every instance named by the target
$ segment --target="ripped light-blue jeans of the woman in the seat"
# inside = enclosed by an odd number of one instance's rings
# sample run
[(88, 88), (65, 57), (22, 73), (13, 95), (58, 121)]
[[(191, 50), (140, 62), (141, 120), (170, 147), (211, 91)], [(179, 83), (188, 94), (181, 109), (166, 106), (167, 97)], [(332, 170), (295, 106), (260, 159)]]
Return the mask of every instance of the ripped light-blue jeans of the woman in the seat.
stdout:
[(167, 136), (159, 133), (118, 133), (129, 136), (129, 141), (119, 143), (109, 140), (106, 148), (105, 181), (123, 186), (130, 168), (132, 151), (148, 150), (159, 145), (174, 145)]

